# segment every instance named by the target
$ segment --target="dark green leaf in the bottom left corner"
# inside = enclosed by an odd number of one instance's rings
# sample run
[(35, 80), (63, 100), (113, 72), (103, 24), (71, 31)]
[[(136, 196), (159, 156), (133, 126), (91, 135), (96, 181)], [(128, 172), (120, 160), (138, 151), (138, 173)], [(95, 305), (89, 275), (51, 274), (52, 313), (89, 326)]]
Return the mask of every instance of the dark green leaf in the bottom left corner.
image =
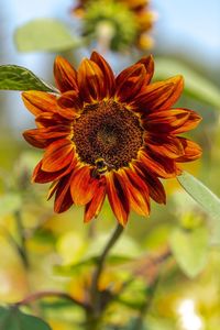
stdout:
[(16, 307), (0, 307), (0, 330), (52, 330), (43, 320), (21, 312)]

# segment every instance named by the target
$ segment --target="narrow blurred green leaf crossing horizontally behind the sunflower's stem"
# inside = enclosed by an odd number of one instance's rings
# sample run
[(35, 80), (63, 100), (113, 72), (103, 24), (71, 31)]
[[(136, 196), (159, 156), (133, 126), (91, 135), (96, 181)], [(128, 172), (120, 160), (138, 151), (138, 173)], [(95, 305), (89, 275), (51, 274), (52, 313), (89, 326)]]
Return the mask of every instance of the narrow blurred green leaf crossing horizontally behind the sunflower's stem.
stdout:
[[(97, 264), (99, 261), (99, 256), (91, 256), (88, 258), (85, 258), (84, 261), (76, 263), (74, 265), (67, 265), (67, 266), (55, 266), (54, 271), (58, 275), (64, 276), (72, 276), (76, 274), (76, 272), (82, 270), (84, 267), (92, 266)], [(120, 265), (123, 263), (128, 263), (133, 261), (132, 257), (129, 257), (127, 255), (109, 255), (107, 258), (108, 265)]]

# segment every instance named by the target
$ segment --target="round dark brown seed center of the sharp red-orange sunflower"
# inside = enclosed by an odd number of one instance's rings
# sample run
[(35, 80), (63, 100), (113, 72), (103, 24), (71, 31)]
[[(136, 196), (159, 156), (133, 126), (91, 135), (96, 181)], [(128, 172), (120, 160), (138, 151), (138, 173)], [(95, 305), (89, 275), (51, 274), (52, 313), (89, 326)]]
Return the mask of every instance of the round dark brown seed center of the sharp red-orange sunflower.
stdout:
[(136, 158), (143, 129), (130, 110), (113, 100), (86, 106), (74, 123), (73, 141), (81, 162), (95, 165), (102, 158), (119, 169)]

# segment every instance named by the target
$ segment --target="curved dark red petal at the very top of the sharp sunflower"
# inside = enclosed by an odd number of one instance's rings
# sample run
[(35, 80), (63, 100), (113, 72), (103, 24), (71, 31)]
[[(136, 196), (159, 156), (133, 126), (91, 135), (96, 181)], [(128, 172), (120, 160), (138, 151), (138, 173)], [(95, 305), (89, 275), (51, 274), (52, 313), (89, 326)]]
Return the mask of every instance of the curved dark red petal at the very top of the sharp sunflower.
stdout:
[(111, 97), (114, 94), (116, 80), (114, 80), (114, 74), (110, 65), (97, 52), (92, 52), (90, 59), (94, 61), (100, 67), (105, 77), (103, 84), (105, 84), (106, 96)]

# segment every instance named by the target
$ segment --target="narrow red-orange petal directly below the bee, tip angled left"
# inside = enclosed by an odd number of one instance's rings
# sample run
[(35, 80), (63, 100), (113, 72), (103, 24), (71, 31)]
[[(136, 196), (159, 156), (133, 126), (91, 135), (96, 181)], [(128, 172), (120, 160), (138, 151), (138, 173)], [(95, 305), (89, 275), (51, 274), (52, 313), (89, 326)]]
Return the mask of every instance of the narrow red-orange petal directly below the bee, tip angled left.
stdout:
[(92, 199), (86, 205), (84, 221), (98, 217), (106, 198), (106, 180), (100, 180)]

